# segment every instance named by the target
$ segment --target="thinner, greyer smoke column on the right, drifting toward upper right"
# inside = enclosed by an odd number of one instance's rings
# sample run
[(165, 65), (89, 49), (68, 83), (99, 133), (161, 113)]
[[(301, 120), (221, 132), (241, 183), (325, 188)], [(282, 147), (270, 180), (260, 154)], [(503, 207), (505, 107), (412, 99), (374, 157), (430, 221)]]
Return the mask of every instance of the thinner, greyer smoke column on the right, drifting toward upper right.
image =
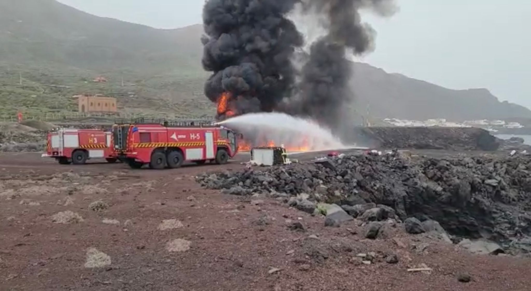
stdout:
[(316, 119), (339, 133), (351, 123), (353, 113), (346, 105), (353, 100), (350, 87), (353, 66), (347, 53), (355, 55), (374, 48), (374, 30), (361, 20), (359, 10), (371, 8), (380, 15), (394, 11), (391, 0), (302, 0), (303, 13), (321, 15), (320, 23), (327, 35), (310, 48), (310, 56), (302, 69), (298, 98), (288, 100), (287, 111)]

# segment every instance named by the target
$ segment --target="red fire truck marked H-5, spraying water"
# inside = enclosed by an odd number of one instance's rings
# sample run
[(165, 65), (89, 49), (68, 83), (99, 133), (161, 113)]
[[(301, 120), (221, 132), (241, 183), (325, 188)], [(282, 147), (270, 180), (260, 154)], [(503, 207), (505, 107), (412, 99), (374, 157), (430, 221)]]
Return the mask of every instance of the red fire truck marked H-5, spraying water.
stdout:
[(178, 168), (184, 161), (225, 164), (237, 152), (237, 134), (212, 122), (137, 119), (113, 126), (114, 150), (132, 168)]

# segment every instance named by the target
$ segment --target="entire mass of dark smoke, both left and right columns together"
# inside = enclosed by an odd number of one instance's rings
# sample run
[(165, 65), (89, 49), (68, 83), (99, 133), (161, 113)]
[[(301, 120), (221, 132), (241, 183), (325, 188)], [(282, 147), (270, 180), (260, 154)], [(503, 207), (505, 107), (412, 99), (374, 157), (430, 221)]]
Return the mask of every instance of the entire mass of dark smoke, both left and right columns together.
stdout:
[[(303, 38), (287, 17), (296, 6), (327, 31), (311, 45), (300, 72), (292, 61)], [(353, 99), (346, 56), (374, 48), (374, 31), (359, 14), (365, 8), (388, 16), (394, 6), (392, 0), (208, 0), (203, 67), (213, 74), (205, 94), (217, 102), (229, 92), (229, 108), (238, 115), (278, 110), (337, 130)]]

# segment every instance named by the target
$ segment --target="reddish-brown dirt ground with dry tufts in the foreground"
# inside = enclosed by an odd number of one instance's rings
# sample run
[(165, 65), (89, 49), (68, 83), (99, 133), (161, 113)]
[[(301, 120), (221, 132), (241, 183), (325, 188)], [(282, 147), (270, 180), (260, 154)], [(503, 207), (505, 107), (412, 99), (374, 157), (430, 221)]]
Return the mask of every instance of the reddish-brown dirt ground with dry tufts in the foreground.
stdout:
[[(248, 159), (157, 171), (1, 153), (0, 290), (531, 289), (529, 259), (472, 255), (400, 229), (369, 240), (356, 221), (324, 227), (281, 201), (194, 181)], [(296, 221), (304, 232), (288, 227)], [(418, 267), (432, 270), (407, 271)]]

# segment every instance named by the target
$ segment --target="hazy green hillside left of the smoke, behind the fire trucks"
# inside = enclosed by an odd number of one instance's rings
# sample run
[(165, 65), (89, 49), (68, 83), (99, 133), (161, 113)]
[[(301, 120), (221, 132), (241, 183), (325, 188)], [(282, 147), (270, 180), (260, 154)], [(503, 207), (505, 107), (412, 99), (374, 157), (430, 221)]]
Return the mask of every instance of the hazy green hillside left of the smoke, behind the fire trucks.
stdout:
[[(0, 116), (75, 110), (70, 97), (79, 93), (116, 97), (127, 112), (211, 114), (196, 98), (207, 76), (201, 31), (100, 18), (54, 0), (3, 0)], [(91, 81), (100, 75), (108, 82)]]

